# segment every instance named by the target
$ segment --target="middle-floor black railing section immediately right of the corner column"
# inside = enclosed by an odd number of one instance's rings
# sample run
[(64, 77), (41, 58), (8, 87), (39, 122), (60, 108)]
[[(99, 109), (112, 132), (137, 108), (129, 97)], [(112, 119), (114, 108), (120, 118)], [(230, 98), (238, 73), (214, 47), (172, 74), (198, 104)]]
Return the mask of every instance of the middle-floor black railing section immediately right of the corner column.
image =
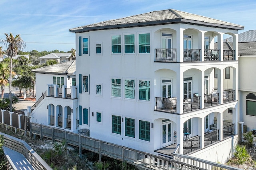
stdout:
[(200, 109), (200, 97), (183, 99), (183, 112)]

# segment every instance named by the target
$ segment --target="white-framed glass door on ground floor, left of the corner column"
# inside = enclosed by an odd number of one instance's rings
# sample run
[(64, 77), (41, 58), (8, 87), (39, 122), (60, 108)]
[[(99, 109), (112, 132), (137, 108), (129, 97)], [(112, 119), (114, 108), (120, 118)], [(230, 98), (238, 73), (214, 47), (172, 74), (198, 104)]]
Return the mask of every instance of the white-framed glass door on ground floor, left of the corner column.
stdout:
[(162, 123), (162, 147), (172, 144), (172, 121)]

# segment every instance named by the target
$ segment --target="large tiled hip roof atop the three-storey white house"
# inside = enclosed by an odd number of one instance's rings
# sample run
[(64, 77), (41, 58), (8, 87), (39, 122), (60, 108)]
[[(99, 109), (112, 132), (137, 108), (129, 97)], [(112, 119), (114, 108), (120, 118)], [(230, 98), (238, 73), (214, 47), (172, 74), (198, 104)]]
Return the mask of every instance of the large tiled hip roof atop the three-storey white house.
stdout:
[(216, 20), (196, 14), (190, 14), (178, 10), (161, 10), (153, 11), (136, 16), (129, 16), (116, 20), (103, 21), (93, 23), (81, 27), (69, 29), (70, 32), (86, 32), (99, 29), (117, 29), (122, 27), (138, 27), (148, 25), (162, 25), (170, 23), (189, 23), (198, 25), (207, 25), (212, 27), (221, 27), (228, 29), (244, 29), (244, 26), (229, 23), (221, 20)]

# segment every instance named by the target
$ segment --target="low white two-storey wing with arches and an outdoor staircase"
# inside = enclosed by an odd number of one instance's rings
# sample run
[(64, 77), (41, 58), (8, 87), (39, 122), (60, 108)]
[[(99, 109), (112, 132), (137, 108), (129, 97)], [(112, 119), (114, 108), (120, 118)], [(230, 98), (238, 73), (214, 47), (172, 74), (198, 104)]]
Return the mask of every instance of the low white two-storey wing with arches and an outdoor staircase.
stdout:
[(77, 107), (75, 70), (76, 61), (32, 70), (36, 73), (36, 100), (40, 100), (40, 103), (37, 102), (37, 105), (32, 107), (32, 122), (76, 131), (76, 122), (72, 123), (74, 126), (71, 127), (71, 119), (67, 120), (72, 110)]

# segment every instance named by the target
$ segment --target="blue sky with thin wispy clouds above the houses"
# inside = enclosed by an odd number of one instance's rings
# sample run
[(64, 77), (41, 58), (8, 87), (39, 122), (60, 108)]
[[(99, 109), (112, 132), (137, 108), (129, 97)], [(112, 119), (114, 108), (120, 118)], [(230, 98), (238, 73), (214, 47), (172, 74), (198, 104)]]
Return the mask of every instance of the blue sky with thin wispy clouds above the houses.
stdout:
[(12, 32), (23, 51), (66, 52), (75, 48), (70, 28), (170, 8), (256, 29), (256, 0), (0, 0), (0, 39)]

